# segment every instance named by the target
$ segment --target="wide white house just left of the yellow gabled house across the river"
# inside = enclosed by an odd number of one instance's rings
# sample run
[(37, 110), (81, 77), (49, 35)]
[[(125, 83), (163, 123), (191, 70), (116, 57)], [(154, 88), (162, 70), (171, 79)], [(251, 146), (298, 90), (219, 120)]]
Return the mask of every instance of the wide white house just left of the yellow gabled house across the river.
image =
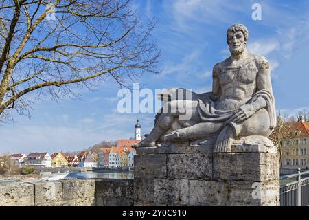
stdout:
[(48, 153), (30, 152), (25, 158), (25, 166), (52, 167), (52, 157)]

